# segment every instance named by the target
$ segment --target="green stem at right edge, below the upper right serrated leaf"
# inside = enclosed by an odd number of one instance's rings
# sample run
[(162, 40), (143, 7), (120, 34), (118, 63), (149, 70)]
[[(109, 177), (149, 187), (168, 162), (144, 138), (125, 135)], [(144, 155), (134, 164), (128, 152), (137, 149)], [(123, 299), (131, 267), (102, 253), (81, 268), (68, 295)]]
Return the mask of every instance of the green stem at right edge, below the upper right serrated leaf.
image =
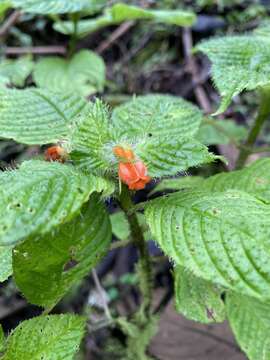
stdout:
[(269, 91), (269, 88), (262, 88), (260, 95), (261, 95), (261, 99), (260, 99), (261, 103), (260, 103), (260, 107), (259, 107), (259, 112), (258, 112), (258, 115), (255, 119), (253, 126), (251, 127), (251, 129), (249, 131), (249, 134), (248, 134), (247, 140), (244, 144), (244, 147), (242, 147), (240, 150), (239, 157), (236, 162), (236, 169), (241, 169), (245, 165), (245, 162), (246, 162), (248, 156), (250, 155), (250, 153), (253, 152), (252, 148), (257, 140), (257, 137), (262, 129), (262, 126), (263, 126), (265, 120), (270, 115), (270, 91)]

